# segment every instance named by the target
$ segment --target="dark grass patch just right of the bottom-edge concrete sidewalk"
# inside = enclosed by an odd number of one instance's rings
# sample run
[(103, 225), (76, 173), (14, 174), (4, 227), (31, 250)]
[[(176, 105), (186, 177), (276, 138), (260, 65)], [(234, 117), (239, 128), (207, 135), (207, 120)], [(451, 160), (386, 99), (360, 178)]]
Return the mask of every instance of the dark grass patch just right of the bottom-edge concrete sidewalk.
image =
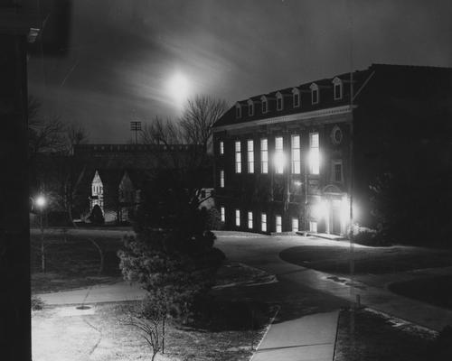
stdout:
[(425, 331), (368, 310), (339, 315), (334, 361), (425, 361), (432, 360), (434, 351), (435, 340)]

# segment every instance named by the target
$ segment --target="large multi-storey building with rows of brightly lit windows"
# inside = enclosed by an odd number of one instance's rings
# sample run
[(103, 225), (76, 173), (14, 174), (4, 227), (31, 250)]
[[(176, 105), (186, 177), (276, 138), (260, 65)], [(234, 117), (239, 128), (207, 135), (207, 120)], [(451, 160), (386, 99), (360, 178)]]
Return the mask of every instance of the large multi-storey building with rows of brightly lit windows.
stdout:
[[(214, 125), (225, 228), (346, 235), (351, 208), (372, 227), (369, 187), (433, 149), (451, 94), (452, 69), (374, 64), (238, 101)], [(450, 166), (449, 144), (423, 162)]]

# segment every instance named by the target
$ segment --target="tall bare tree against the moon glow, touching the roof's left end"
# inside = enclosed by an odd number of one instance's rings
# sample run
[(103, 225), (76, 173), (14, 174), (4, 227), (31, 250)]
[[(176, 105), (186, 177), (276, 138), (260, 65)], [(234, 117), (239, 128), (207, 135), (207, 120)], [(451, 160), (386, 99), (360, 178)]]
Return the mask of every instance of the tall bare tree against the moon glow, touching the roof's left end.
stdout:
[(189, 99), (181, 117), (187, 143), (202, 146), (204, 153), (212, 149), (212, 126), (228, 109), (222, 99), (196, 96)]

